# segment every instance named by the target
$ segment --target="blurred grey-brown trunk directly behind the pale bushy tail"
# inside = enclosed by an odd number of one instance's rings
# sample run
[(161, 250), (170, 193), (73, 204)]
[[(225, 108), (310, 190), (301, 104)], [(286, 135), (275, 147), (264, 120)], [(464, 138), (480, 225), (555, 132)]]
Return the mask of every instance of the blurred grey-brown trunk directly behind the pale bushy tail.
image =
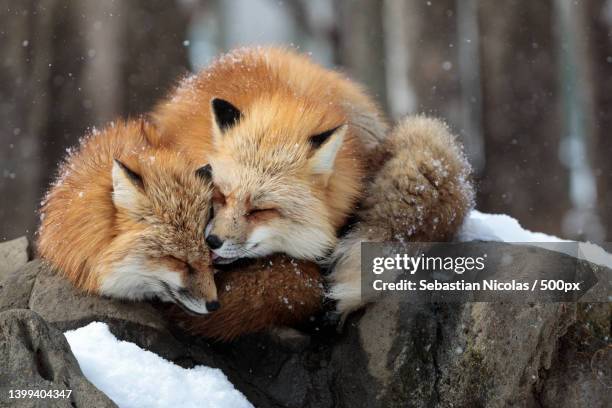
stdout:
[[(470, 162), (483, 163), (475, 0), (402, 4), (414, 110), (444, 119), (460, 135)], [(393, 58), (393, 56), (390, 56)]]

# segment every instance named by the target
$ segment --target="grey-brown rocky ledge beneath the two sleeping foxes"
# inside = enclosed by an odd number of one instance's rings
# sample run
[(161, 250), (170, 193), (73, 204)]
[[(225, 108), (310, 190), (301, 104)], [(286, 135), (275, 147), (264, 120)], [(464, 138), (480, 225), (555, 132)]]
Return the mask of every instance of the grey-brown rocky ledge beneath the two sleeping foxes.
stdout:
[(28, 254), (25, 239), (0, 244), (0, 406), (20, 406), (8, 390), (25, 386), (72, 389), (56, 402), (65, 406), (114, 406), (62, 335), (92, 321), (183, 367), (221, 368), (257, 407), (612, 405), (610, 303), (389, 298), (351, 316), (342, 333), (309, 327), (218, 344), (184, 335), (159, 305), (79, 293)]

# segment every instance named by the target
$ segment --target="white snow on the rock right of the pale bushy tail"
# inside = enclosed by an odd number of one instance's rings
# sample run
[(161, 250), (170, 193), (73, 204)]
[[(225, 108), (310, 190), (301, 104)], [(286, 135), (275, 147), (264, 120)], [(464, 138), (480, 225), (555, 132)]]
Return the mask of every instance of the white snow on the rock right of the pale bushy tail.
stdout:
[[(579, 259), (612, 268), (612, 254), (590, 242), (576, 242), (576, 246), (567, 245), (568, 241), (541, 232), (532, 232), (519, 222), (505, 214), (486, 214), (473, 210), (463, 223), (457, 237), (458, 241), (498, 241), (527, 243), (552, 251), (563, 252)], [(554, 245), (565, 243), (565, 245)]]

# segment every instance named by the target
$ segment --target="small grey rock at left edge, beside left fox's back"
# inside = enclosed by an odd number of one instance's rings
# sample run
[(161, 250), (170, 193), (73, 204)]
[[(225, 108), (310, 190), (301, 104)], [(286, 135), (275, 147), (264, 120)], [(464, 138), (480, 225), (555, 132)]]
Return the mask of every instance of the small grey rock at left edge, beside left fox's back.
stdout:
[(40, 261), (32, 261), (0, 281), (0, 312), (28, 308), (32, 287), (41, 268)]

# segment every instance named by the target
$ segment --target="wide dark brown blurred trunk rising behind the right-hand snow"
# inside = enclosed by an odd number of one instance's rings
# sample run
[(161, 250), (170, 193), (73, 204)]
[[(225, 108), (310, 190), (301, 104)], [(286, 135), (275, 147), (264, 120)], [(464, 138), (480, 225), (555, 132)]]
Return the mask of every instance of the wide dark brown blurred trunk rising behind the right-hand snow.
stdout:
[(478, 203), (561, 233), (569, 208), (554, 1), (479, 1), (486, 164)]

